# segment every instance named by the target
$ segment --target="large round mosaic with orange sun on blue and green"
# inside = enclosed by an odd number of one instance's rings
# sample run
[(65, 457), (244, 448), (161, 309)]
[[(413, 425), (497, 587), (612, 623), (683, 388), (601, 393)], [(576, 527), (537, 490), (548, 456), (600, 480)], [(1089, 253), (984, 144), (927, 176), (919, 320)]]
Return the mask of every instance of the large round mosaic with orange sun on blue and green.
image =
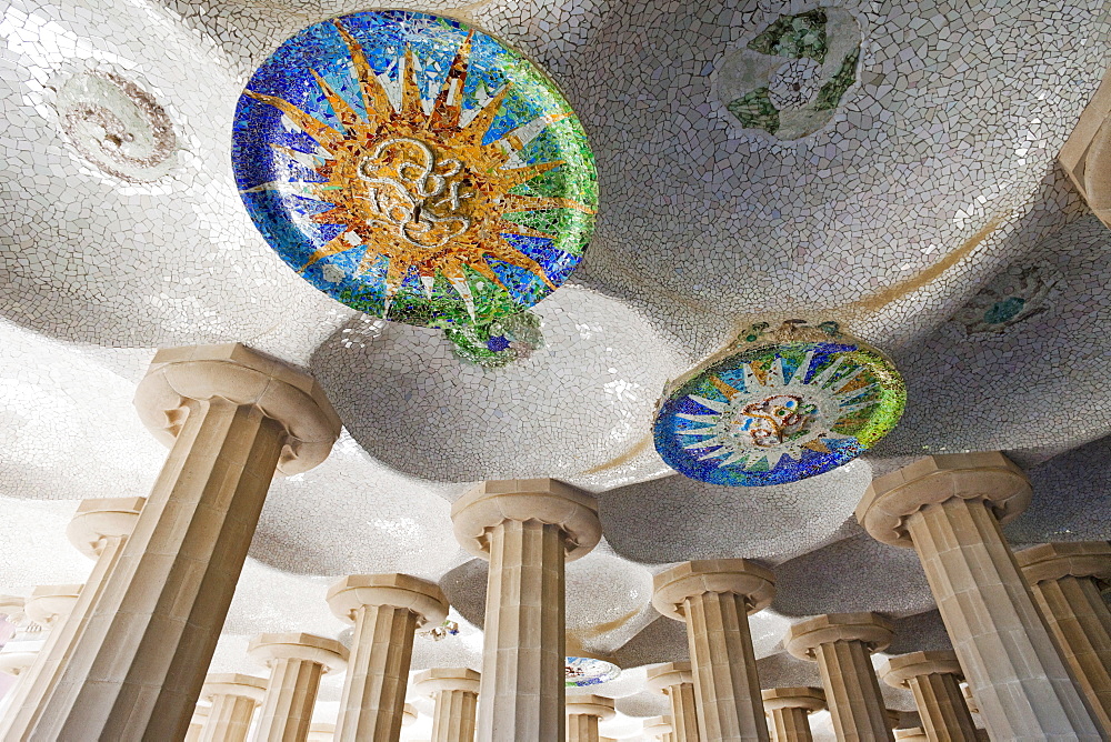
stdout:
[(598, 186), (578, 118), (531, 62), (411, 11), (310, 26), (239, 100), (237, 184), (291, 268), (376, 317), (473, 324), (582, 259)]

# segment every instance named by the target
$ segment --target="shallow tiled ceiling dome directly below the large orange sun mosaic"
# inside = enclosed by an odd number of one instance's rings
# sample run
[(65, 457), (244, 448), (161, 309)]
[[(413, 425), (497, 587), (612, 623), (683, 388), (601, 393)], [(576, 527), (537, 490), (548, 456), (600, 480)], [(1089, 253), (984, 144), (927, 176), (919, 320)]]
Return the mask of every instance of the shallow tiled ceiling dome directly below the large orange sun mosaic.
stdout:
[(565, 287), (533, 311), (544, 347), (500, 369), (461, 362), (437, 331), (391, 325), (378, 340), (336, 332), (312, 372), (354, 440), (424, 479), (559, 477), (623, 457), (681, 369), (674, 353), (597, 292)]

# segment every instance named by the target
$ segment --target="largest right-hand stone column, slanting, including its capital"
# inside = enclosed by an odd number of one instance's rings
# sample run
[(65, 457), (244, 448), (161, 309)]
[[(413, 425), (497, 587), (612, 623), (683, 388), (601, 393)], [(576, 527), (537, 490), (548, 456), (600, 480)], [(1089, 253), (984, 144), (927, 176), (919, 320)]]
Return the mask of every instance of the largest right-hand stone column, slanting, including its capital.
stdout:
[(1027, 475), (1001, 453), (927, 457), (872, 480), (857, 520), (918, 552), (993, 739), (1098, 740), (999, 528), (1030, 497)]

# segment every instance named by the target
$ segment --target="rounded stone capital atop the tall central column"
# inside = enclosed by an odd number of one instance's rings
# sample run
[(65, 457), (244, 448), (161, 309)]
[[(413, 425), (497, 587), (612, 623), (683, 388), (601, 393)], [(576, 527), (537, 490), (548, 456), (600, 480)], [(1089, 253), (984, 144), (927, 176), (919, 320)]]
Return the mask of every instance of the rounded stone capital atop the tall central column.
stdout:
[(488, 558), (488, 531), (506, 521), (540, 521), (567, 534), (567, 561), (585, 556), (602, 538), (598, 501), (553, 479), (482, 482), (451, 507), (456, 539), (476, 556)]

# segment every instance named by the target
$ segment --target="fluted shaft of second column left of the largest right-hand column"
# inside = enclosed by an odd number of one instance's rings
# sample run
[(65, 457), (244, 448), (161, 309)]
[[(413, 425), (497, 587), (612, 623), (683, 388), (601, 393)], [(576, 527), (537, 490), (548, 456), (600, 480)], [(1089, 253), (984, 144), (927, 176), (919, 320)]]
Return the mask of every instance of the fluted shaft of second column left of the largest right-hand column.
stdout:
[(860, 641), (834, 641), (814, 650), (825, 688), (825, 702), (838, 740), (891, 740), (888, 712), (872, 669), (868, 648)]

